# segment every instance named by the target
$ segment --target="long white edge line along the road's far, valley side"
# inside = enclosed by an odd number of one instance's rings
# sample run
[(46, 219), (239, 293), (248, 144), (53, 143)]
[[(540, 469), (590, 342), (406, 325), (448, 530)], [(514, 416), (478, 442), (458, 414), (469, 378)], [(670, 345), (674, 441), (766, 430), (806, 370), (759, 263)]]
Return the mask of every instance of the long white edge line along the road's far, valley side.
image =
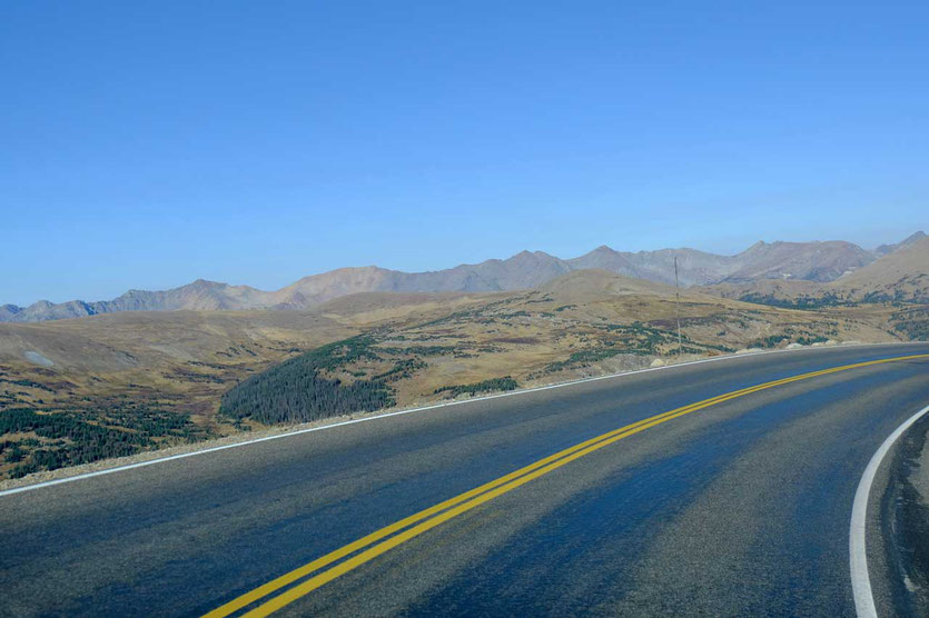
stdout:
[(217, 451), (220, 451), (220, 450), (245, 447), (245, 446), (255, 445), (255, 443), (258, 443), (258, 442), (267, 442), (267, 441), (270, 441), (270, 440), (278, 440), (280, 438), (290, 438), (290, 437), (294, 437), (294, 436), (300, 436), (303, 433), (310, 433), (313, 431), (322, 431), (323, 429), (333, 429), (335, 427), (343, 427), (345, 425), (355, 425), (356, 422), (367, 422), (367, 421), (370, 421), (370, 420), (377, 420), (377, 419), (382, 419), (382, 418), (396, 417), (396, 416), (408, 415), (408, 413), (413, 413), (413, 412), (423, 412), (423, 411), (426, 411), (426, 410), (434, 410), (436, 408), (445, 408), (445, 407), (449, 407), (449, 406), (458, 406), (458, 405), (462, 405), (462, 403), (474, 403), (474, 402), (477, 402), (477, 401), (486, 401), (488, 399), (497, 399), (500, 397), (511, 397), (511, 396), (514, 396), (514, 395), (525, 395), (525, 393), (528, 393), (528, 392), (537, 392), (540, 390), (562, 388), (562, 387), (580, 385), (580, 383), (584, 383), (584, 382), (594, 382), (594, 381), (597, 381), (597, 380), (609, 380), (609, 379), (613, 379), (613, 378), (622, 378), (624, 376), (632, 376), (632, 375), (635, 375), (635, 373), (645, 373), (648, 371), (659, 371), (661, 369), (673, 369), (675, 367), (685, 367), (688, 365), (700, 365), (702, 362), (714, 362), (714, 361), (719, 361), (719, 360), (731, 360), (731, 359), (747, 358), (747, 357), (753, 357), (753, 356), (759, 356), (759, 355), (795, 352), (795, 351), (802, 351), (802, 350), (834, 350), (837, 348), (857, 348), (857, 347), (864, 347), (864, 346), (907, 346), (907, 345), (920, 343), (920, 342), (921, 341), (903, 341), (903, 342), (893, 341), (893, 342), (886, 342), (886, 343), (857, 343), (857, 345), (850, 345), (850, 346), (841, 346), (841, 345), (839, 345), (839, 346), (823, 346), (823, 347), (820, 347), (820, 348), (803, 347), (803, 348), (794, 348), (792, 350), (762, 350), (762, 351), (758, 351), (758, 352), (748, 352), (748, 353), (741, 353), (741, 355), (724, 355), (724, 356), (716, 356), (716, 357), (711, 357), (711, 358), (702, 358), (700, 360), (689, 360), (686, 362), (679, 362), (679, 363), (675, 363), (675, 365), (665, 365), (665, 366), (662, 366), (662, 367), (648, 367), (645, 369), (635, 369), (633, 371), (621, 371), (619, 373), (607, 373), (605, 376), (594, 376), (592, 378), (581, 378), (580, 380), (571, 380), (571, 381), (567, 381), (567, 382), (559, 382), (559, 383), (555, 383), (555, 385), (547, 385), (547, 386), (541, 386), (541, 387), (534, 387), (534, 388), (518, 389), (518, 390), (513, 390), (513, 391), (510, 391), (510, 392), (501, 392), (501, 393), (497, 393), (497, 395), (487, 395), (487, 396), (484, 396), (484, 397), (473, 397), (471, 399), (463, 399), (463, 400), (459, 400), (459, 401), (446, 401), (446, 402), (442, 402), (442, 403), (434, 403), (432, 406), (424, 406), (422, 408), (409, 408), (409, 409), (406, 409), (406, 410), (397, 410), (395, 412), (384, 412), (384, 413), (381, 413), (381, 415), (368, 416), (368, 417), (364, 417), (364, 418), (356, 418), (356, 419), (350, 419), (350, 420), (344, 420), (344, 421), (340, 421), (340, 422), (333, 422), (330, 425), (323, 425), (323, 426), (319, 426), (319, 427), (308, 427), (306, 429), (297, 429), (297, 430), (294, 430), (294, 431), (287, 431), (285, 433), (277, 433), (275, 436), (265, 436), (264, 438), (255, 438), (253, 440), (244, 440), (241, 442), (234, 442), (231, 445), (223, 445), (220, 447), (210, 447), (210, 448), (205, 448), (205, 449), (200, 449), (200, 450), (194, 450), (194, 451), (190, 451), (190, 452), (182, 452), (182, 453), (179, 453), (179, 455), (170, 455), (168, 457), (159, 457), (158, 459), (149, 459), (148, 461), (139, 461), (138, 464), (127, 464), (126, 466), (117, 466), (115, 468), (107, 468), (105, 470), (97, 470), (97, 471), (93, 471), (93, 472), (85, 472), (85, 474), (81, 474), (81, 475), (75, 475), (72, 477), (65, 477), (65, 478), (55, 479), (55, 480), (47, 480), (47, 481), (43, 481), (43, 482), (37, 482), (34, 485), (24, 485), (22, 487), (14, 487), (12, 489), (4, 489), (4, 490), (0, 491), (0, 497), (10, 496), (10, 495), (13, 495), (13, 494), (21, 494), (23, 491), (32, 491), (33, 489), (41, 489), (43, 487), (51, 487), (53, 485), (61, 485), (61, 484), (65, 484), (65, 482), (72, 482), (72, 481), (76, 481), (76, 480), (88, 479), (88, 478), (92, 478), (92, 477), (100, 477), (100, 476), (103, 476), (103, 475), (111, 475), (113, 472), (122, 472), (125, 470), (132, 470), (135, 468), (145, 468), (146, 466), (154, 466), (155, 464), (164, 464), (166, 461), (174, 461), (174, 460), (177, 460), (177, 459), (185, 459), (187, 457), (194, 457), (196, 455), (206, 455), (206, 453), (209, 453), (209, 452), (217, 452)]

